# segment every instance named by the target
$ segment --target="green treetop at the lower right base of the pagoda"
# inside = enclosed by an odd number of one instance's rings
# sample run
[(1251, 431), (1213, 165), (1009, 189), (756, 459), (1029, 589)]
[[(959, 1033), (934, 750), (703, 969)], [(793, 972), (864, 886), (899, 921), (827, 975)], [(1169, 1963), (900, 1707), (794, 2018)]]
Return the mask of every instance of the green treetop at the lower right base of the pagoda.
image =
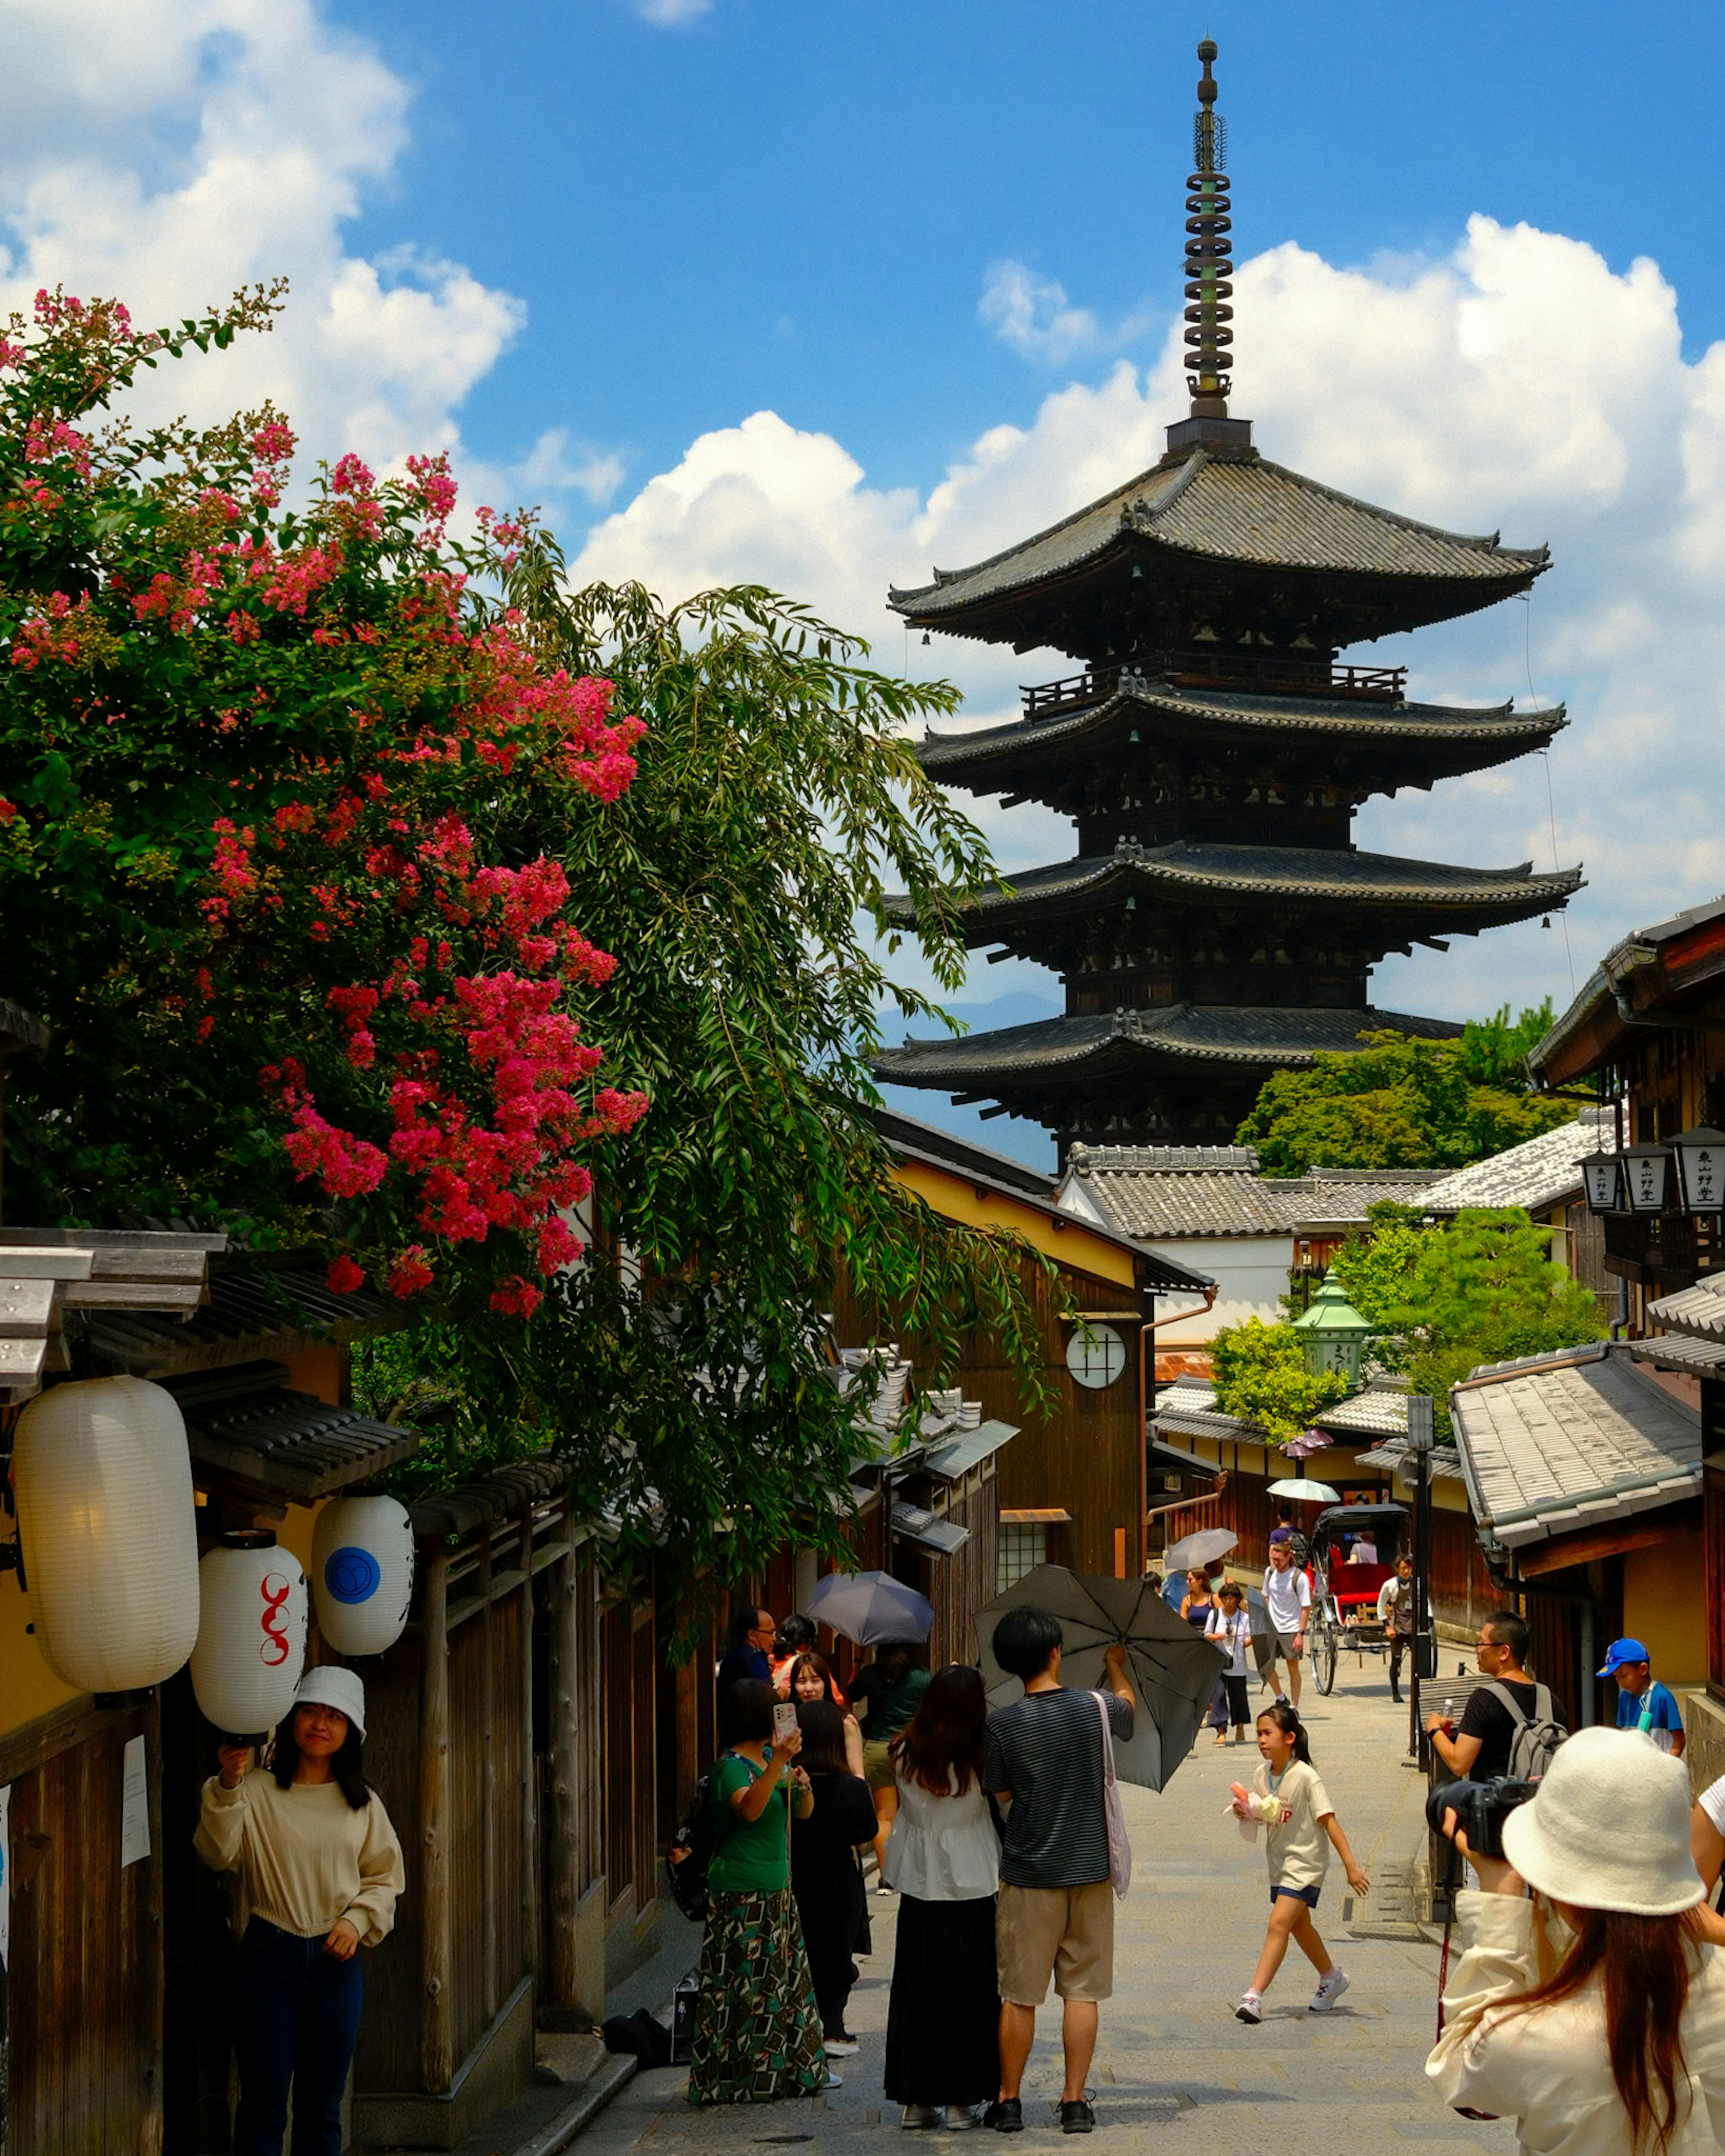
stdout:
[(1574, 1104), (1527, 1087), (1527, 1048), (1550, 1005), (1507, 1005), (1460, 1039), (1367, 1033), (1356, 1052), (1324, 1052), (1311, 1069), (1274, 1072), (1238, 1130), (1266, 1175), (1309, 1169), (1464, 1169), (1574, 1117)]

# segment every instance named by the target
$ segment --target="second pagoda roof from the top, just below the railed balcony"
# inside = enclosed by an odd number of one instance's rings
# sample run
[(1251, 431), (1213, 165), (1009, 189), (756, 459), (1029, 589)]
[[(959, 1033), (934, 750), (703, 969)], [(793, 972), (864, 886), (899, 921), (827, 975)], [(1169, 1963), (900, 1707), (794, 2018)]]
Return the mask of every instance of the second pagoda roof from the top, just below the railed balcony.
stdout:
[(1259, 696), (1236, 690), (1171, 688), (1126, 673), (1119, 688), (1078, 711), (1052, 718), (1016, 718), (1003, 727), (968, 733), (929, 729), (916, 750), (923, 770), (979, 793), (1026, 785), (1031, 772), (1048, 763), (1070, 772), (1074, 750), (1108, 748), (1145, 720), (1171, 733), (1203, 735), (1317, 735), (1337, 746), (1358, 744), (1384, 759), (1408, 761), (1443, 776), (1507, 763), (1542, 748), (1568, 724), (1563, 705), (1518, 711), (1514, 703), (1490, 707), (1404, 703), (1382, 705), (1343, 696)]

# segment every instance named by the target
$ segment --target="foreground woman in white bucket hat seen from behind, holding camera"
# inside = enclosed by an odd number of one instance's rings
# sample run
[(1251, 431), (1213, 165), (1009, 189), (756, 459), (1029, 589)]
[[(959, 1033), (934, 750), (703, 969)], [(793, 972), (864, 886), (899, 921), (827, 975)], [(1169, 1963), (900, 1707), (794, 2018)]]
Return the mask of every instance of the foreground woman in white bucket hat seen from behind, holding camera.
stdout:
[(1479, 1891), (1455, 1897), (1464, 1951), (1425, 2061), (1443, 2100), (1514, 2117), (1540, 2156), (1725, 2147), (1725, 1960), (1703, 1943), (1684, 1768), (1581, 1729), (1503, 1822), (1501, 1858), (1458, 1846)]

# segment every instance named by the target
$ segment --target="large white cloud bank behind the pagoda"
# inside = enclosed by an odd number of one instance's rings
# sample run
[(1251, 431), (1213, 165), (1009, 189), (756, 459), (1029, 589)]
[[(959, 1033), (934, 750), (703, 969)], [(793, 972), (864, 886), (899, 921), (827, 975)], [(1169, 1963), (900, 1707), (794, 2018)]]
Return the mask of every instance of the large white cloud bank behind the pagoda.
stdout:
[[(1065, 295), (1029, 308), (1031, 332)], [(1376, 800), (1361, 845), (1432, 860), (1583, 860), (1570, 914), (1576, 975), (1615, 936), (1725, 888), (1714, 802), (1725, 744), (1725, 347), (1682, 358), (1678, 295), (1650, 261), (1624, 274), (1583, 241), (1475, 218), (1443, 261), (1337, 270), (1296, 246), (1244, 263), (1246, 354), (1236, 410), (1281, 464), (1414, 517), (1548, 539), (1531, 617), (1499, 606), (1371, 655), (1412, 666), (1419, 696), (1561, 696), (1570, 729), (1550, 774), (1527, 757), (1434, 793)], [(763, 580), (875, 640), (886, 664), (951, 673), (975, 716), (1016, 683), (1065, 671), (955, 638), (925, 651), (886, 612), (888, 584), (927, 582), (1108, 492), (1162, 451), (1184, 410), (1179, 332), (1147, 373), (1044, 399), (1029, 427), (994, 427), (923, 492), (884, 492), (830, 436), (772, 412), (701, 436), (589, 537), (578, 573), (640, 576), (666, 595)], [(1546, 783), (1550, 776), (1552, 806)], [(1057, 858), (1054, 819), (979, 808), (1007, 867)], [(972, 972), (970, 994), (1029, 985)], [(1563, 1005), (1561, 925), (1460, 940), (1447, 957), (1389, 959), (1391, 1009), (1466, 1013), (1505, 998)]]

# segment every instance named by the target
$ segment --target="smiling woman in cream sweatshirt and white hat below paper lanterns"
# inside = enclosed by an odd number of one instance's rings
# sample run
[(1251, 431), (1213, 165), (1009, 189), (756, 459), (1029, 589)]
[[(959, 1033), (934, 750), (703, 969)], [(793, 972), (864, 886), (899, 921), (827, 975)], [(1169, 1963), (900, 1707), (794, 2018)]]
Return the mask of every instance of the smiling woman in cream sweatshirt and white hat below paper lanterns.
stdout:
[(395, 1923), (405, 1880), (384, 1800), (360, 1774), (364, 1686), (328, 1664), (300, 1680), (274, 1764), (224, 1744), (194, 1848), (239, 1878), (237, 2156), (341, 2156), (341, 2091), (360, 2033), (360, 1947)]

